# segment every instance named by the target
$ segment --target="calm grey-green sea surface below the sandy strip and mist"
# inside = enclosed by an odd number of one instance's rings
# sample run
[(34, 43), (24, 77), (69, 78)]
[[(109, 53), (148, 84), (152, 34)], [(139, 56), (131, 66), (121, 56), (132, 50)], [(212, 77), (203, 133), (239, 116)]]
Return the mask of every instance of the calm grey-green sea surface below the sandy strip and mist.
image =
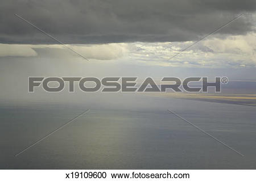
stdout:
[(255, 107), (149, 96), (130, 102), (134, 104), (1, 105), (0, 169), (256, 169)]

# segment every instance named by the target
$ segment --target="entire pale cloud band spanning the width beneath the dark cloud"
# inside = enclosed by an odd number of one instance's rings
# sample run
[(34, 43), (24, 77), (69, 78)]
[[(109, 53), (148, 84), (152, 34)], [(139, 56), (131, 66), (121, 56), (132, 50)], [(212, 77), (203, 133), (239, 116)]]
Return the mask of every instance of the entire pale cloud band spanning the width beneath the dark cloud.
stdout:
[[(256, 33), (213, 37), (168, 60), (193, 41), (166, 43), (112, 43), (67, 45), (91, 60), (118, 60), (151, 66), (243, 68), (256, 66)], [(63, 45), (0, 44), (0, 56), (69, 58), (78, 57)]]

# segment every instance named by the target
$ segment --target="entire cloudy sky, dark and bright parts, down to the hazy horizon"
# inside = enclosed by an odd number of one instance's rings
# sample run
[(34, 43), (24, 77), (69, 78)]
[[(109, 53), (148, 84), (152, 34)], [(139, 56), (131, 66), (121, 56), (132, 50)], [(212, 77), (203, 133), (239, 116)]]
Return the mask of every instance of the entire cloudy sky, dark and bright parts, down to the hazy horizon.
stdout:
[(32, 76), (226, 76), (256, 81), (255, 12), (256, 1), (246, 0), (2, 1), (0, 97), (11, 96), (16, 85), (27, 93)]

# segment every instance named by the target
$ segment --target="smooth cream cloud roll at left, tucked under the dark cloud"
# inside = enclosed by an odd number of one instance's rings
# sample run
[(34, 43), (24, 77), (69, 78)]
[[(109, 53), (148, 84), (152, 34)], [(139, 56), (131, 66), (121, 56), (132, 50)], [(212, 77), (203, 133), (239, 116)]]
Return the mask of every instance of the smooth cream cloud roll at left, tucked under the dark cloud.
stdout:
[[(127, 53), (127, 45), (118, 44), (94, 44), (94, 45), (67, 45), (76, 52), (89, 59), (114, 60)], [(63, 45), (20, 45), (0, 44), (0, 57), (73, 57), (77, 56)]]

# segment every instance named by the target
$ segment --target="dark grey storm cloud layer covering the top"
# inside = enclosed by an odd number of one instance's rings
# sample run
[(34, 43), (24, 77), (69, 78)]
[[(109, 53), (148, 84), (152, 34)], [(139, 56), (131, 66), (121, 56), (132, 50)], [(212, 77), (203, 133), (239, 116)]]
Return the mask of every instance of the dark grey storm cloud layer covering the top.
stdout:
[(218, 33), (252, 30), (256, 1), (2, 1), (0, 43), (56, 43), (27, 23), (69, 44), (197, 40), (241, 13)]

